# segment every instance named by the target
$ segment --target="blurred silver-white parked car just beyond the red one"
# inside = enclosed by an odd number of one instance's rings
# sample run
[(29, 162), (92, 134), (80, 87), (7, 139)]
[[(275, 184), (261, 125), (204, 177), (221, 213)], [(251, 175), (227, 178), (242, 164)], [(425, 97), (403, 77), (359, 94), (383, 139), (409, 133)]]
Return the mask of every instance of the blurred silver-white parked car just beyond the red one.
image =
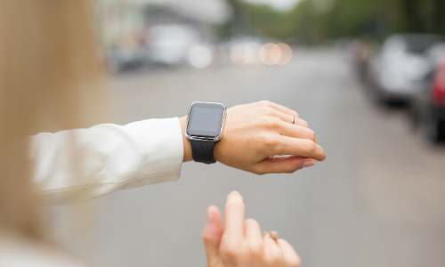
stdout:
[(442, 36), (418, 34), (390, 36), (371, 62), (369, 82), (376, 101), (409, 102), (428, 84), (432, 66), (428, 49)]

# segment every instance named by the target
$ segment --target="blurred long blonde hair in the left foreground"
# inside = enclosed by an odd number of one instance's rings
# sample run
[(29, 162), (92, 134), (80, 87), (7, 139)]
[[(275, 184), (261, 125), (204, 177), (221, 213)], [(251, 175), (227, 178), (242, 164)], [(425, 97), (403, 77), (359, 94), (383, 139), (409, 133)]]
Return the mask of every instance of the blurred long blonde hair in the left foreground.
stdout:
[(89, 0), (0, 1), (0, 227), (41, 237), (27, 135), (105, 113)]

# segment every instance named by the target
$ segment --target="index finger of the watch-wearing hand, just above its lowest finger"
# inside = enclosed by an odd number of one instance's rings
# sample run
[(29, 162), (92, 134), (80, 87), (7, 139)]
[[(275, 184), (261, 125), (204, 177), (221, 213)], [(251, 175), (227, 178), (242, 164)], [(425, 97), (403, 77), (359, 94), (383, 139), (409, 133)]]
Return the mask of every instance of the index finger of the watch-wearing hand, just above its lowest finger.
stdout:
[(280, 135), (277, 142), (274, 151), (275, 155), (293, 155), (305, 158), (315, 158), (319, 161), (323, 161), (326, 158), (325, 151), (311, 140)]

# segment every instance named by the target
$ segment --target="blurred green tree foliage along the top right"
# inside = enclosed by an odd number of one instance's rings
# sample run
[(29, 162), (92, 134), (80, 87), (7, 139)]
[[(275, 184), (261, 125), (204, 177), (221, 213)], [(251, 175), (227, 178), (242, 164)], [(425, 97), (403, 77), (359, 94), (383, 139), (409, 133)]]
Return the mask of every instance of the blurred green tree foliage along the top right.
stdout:
[(231, 0), (245, 34), (320, 43), (344, 36), (384, 38), (394, 32), (445, 34), (444, 0), (302, 0), (279, 12)]

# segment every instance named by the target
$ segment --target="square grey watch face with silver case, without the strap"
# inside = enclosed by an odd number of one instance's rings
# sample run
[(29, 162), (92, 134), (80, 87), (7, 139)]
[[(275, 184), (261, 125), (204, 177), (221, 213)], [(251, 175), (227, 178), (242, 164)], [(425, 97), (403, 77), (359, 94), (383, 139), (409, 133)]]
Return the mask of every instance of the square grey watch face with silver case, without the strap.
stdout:
[(191, 137), (219, 137), (223, 130), (224, 111), (220, 103), (194, 102), (190, 107), (187, 134)]

